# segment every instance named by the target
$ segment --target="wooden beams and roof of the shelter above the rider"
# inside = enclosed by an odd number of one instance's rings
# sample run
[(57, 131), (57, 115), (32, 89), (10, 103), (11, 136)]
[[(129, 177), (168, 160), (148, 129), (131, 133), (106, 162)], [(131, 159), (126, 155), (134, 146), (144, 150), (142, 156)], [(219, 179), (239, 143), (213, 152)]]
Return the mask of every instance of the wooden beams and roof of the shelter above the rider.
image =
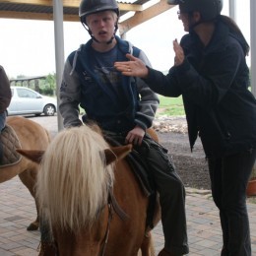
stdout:
[[(79, 21), (81, 0), (63, 0), (63, 21)], [(120, 9), (119, 32), (122, 35), (137, 25), (146, 22), (170, 9), (166, 0), (117, 1)], [(54, 19), (52, 0), (2, 0), (0, 18), (48, 20)], [(127, 18), (126, 18), (127, 17)]]

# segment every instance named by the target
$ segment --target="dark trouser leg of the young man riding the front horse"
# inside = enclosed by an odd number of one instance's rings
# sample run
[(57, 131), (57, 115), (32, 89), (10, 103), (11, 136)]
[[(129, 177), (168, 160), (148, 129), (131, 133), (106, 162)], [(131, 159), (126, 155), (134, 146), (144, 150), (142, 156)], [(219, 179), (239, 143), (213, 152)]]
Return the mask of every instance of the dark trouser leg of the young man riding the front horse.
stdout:
[(135, 147), (146, 160), (160, 194), (161, 223), (164, 248), (174, 255), (187, 254), (187, 226), (185, 214), (185, 189), (175, 171), (167, 150), (146, 135), (143, 144)]

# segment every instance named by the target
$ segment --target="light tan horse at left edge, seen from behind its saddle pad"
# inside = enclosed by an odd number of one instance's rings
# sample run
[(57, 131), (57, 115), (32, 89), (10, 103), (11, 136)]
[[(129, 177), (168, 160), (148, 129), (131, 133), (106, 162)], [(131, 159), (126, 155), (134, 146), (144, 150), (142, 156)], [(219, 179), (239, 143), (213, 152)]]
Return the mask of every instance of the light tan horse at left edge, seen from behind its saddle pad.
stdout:
[[(39, 124), (30, 119), (21, 116), (11, 116), (7, 118), (7, 124), (15, 131), (22, 149), (45, 151), (50, 142), (50, 136)], [(32, 197), (35, 198), (35, 179), (38, 171), (38, 164), (27, 158), (22, 158), (18, 163), (0, 168), (0, 183), (19, 175), (22, 182), (30, 190)], [(38, 205), (35, 200), (36, 211)], [(38, 228), (38, 211), (37, 217), (28, 230)]]

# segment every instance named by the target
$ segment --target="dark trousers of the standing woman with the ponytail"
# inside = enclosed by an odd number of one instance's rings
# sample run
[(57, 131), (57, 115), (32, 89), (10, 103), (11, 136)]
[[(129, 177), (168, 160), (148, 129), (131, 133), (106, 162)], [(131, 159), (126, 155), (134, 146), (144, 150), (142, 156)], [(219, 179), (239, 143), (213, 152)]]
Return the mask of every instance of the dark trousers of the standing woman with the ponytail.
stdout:
[(256, 150), (224, 158), (209, 159), (212, 194), (220, 210), (223, 256), (250, 256), (250, 228), (246, 208), (246, 187)]

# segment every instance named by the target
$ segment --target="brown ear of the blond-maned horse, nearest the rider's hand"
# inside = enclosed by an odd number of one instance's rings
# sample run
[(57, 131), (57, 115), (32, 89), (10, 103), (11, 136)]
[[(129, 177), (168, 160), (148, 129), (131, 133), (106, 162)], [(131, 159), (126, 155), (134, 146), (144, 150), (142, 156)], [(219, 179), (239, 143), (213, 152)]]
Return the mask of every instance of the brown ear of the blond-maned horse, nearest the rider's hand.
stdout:
[(132, 151), (132, 145), (113, 147), (111, 150), (104, 150), (106, 164), (111, 163), (114, 160), (121, 160), (125, 158)]

